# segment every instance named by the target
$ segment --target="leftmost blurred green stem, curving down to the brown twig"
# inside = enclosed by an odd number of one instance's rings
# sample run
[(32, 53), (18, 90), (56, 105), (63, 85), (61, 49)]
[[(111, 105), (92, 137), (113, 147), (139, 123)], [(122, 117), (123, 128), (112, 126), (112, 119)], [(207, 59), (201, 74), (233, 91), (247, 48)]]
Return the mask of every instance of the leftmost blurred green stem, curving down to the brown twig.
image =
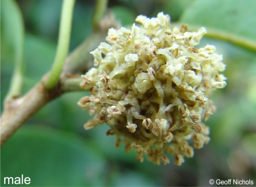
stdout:
[(7, 101), (11, 98), (21, 95), (21, 88), (23, 82), (22, 64), (24, 46), (24, 23), (21, 11), (15, 1), (2, 1), (2, 4), (3, 25), (5, 27), (3, 28), (3, 33), (11, 35), (10, 43), (11, 45), (13, 45), (14, 48), (14, 71), (10, 83), (10, 88), (5, 98), (5, 101)]

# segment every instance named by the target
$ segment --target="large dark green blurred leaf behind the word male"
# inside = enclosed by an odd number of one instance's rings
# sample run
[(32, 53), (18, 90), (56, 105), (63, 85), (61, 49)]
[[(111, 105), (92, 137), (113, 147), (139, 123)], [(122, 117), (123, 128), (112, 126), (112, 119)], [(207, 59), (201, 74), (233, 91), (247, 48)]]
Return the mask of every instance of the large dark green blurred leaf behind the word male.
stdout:
[(1, 148), (3, 177), (29, 177), (30, 186), (104, 185), (105, 160), (83, 139), (40, 126), (23, 127)]

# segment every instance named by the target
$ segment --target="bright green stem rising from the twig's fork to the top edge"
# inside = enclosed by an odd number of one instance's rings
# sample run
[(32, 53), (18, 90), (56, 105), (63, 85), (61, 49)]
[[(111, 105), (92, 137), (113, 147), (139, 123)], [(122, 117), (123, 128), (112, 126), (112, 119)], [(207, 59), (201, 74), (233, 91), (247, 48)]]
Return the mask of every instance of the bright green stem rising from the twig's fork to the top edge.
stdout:
[(65, 64), (65, 59), (68, 55), (74, 5), (75, 0), (63, 0), (57, 52), (52, 70), (45, 82), (45, 87), (47, 89), (52, 89), (57, 84)]

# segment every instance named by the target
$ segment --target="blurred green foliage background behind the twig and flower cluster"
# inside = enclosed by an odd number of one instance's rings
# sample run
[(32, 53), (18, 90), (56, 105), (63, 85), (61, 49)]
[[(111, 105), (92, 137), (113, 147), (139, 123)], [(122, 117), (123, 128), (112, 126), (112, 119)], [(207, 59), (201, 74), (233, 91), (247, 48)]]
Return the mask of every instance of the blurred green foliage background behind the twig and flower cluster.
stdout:
[[(60, 0), (20, 0), (25, 24), (25, 93), (50, 70), (56, 51)], [(147, 0), (109, 1), (122, 25), (139, 14), (163, 11), (172, 22), (218, 28), (256, 41), (254, 0)], [(91, 33), (94, 1), (76, 1), (70, 51)], [(2, 19), (1, 6), (1, 19)], [(12, 24), (12, 23), (10, 23)], [(1, 21), (2, 31), (2, 21)], [(13, 51), (1, 32), (1, 112), (13, 70)], [(215, 45), (227, 65), (227, 86), (216, 90), (216, 113), (205, 123), (209, 144), (194, 158), (175, 166), (140, 163), (135, 152), (114, 146), (107, 124), (85, 131), (90, 118), (77, 105), (87, 92), (66, 93), (49, 103), (24, 124), (1, 148), (1, 186), (4, 177), (30, 177), (30, 186), (209, 186), (210, 179), (253, 180), (256, 184), (256, 54), (228, 42), (203, 38)], [(29, 186), (28, 185), (28, 186)], [(7, 185), (6, 185), (7, 186)]]

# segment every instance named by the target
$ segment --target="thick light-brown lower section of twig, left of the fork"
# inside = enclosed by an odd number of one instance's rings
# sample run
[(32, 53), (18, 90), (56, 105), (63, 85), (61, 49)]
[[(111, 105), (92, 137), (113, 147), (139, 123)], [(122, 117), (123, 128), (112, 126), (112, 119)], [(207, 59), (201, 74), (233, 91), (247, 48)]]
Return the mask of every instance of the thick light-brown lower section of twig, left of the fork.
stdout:
[(24, 122), (61, 93), (59, 86), (52, 90), (46, 89), (42, 80), (22, 98), (8, 100), (1, 116), (1, 146)]

